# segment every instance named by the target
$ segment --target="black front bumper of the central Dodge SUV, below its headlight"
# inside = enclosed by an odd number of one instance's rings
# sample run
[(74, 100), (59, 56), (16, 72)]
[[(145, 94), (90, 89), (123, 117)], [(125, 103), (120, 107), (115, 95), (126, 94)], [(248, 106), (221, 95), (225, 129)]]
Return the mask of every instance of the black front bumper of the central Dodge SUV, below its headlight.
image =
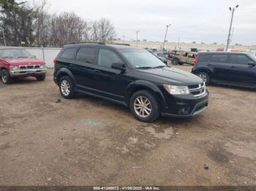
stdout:
[(192, 117), (206, 111), (208, 107), (208, 91), (200, 97), (194, 95), (165, 95), (167, 106), (162, 108), (162, 116)]

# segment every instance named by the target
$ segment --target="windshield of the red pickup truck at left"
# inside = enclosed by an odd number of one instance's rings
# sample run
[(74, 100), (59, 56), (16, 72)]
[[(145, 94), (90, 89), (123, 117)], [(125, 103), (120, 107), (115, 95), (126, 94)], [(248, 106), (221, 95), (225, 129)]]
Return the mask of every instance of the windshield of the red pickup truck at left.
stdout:
[(2, 49), (0, 58), (31, 58), (31, 54), (25, 49)]

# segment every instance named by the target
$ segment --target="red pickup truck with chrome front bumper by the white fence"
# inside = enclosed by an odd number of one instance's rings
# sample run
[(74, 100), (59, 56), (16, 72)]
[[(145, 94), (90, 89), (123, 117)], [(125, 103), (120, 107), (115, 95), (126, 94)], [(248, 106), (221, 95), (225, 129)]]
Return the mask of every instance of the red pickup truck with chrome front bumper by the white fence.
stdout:
[(22, 77), (36, 77), (38, 81), (43, 81), (47, 71), (44, 61), (33, 58), (21, 47), (0, 47), (0, 69), (4, 84)]

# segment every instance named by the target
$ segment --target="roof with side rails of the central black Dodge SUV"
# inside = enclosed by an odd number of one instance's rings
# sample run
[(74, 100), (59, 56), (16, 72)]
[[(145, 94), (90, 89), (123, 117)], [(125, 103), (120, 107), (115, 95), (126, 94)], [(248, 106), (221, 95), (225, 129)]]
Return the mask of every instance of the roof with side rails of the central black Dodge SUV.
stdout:
[(113, 49), (121, 50), (121, 49), (141, 49), (139, 47), (130, 47), (128, 45), (121, 45), (121, 44), (103, 44), (103, 43), (74, 43), (74, 44), (67, 44), (64, 47), (110, 47)]

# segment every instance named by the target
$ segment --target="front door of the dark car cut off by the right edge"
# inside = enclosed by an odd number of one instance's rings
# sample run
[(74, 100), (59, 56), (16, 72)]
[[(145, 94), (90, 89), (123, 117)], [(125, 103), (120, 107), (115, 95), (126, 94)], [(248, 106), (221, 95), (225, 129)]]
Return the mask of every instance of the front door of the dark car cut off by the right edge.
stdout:
[(249, 63), (255, 63), (255, 61), (248, 55), (230, 54), (230, 82), (238, 85), (256, 86), (256, 66), (250, 66)]

